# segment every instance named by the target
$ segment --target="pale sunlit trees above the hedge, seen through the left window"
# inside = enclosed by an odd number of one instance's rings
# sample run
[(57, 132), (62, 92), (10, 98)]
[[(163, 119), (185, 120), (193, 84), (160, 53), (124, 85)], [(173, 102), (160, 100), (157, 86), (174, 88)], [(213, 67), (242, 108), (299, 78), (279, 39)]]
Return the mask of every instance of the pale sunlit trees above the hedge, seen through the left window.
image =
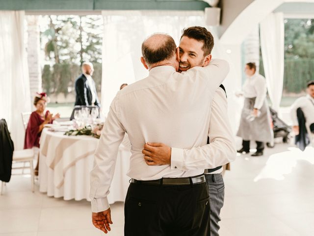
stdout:
[(54, 63), (101, 63), (103, 20), (101, 16), (45, 16), (41, 32), (46, 59)]

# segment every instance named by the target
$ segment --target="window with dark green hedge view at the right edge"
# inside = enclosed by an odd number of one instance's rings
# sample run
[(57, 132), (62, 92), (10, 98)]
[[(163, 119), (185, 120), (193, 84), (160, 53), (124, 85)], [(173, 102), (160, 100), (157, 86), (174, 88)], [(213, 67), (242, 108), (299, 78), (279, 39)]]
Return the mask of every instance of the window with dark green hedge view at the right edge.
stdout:
[[(285, 19), (285, 72), (282, 107), (305, 95), (306, 83), (314, 80), (314, 20)], [(262, 56), (260, 72), (264, 74)]]

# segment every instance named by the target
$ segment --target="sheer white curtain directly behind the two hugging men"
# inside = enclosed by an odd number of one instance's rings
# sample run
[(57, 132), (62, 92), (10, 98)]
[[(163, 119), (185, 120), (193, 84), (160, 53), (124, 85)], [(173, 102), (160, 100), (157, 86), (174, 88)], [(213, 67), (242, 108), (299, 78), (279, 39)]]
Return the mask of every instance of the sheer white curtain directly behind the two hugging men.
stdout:
[(103, 11), (102, 109), (109, 105), (120, 85), (145, 78), (141, 44), (155, 32), (171, 35), (179, 43), (182, 29), (205, 26), (202, 11)]

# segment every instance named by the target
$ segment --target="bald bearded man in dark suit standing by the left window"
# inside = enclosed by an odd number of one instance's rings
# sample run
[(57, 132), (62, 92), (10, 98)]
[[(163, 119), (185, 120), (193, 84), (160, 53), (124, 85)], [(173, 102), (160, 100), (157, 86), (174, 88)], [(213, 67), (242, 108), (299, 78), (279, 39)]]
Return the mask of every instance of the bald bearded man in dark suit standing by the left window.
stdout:
[(82, 74), (75, 81), (76, 100), (75, 106), (99, 106), (95, 81), (92, 78), (94, 72), (93, 64), (83, 62)]

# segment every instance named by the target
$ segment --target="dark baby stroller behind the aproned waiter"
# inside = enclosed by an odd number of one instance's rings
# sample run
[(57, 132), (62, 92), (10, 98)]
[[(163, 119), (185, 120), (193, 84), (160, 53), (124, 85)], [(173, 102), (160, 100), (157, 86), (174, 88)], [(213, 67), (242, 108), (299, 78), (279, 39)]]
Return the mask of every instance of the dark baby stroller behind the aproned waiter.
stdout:
[[(269, 108), (270, 116), (272, 119), (272, 128), (274, 132), (274, 138), (283, 137), (283, 142), (289, 142), (289, 133), (291, 132), (291, 126), (285, 123), (281, 118), (278, 117), (278, 114), (272, 108)], [(273, 148), (274, 145), (267, 143), (268, 148)]]

